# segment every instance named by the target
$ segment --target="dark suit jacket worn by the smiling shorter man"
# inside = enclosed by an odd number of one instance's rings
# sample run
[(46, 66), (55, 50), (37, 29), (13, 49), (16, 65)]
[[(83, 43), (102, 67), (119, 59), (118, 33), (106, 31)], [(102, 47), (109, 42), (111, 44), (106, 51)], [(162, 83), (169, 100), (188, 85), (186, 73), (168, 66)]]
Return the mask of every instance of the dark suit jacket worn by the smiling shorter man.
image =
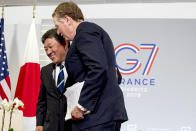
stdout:
[(44, 131), (64, 131), (66, 98), (57, 91), (51, 63), (41, 69), (41, 86), (36, 106), (36, 125), (44, 126)]

